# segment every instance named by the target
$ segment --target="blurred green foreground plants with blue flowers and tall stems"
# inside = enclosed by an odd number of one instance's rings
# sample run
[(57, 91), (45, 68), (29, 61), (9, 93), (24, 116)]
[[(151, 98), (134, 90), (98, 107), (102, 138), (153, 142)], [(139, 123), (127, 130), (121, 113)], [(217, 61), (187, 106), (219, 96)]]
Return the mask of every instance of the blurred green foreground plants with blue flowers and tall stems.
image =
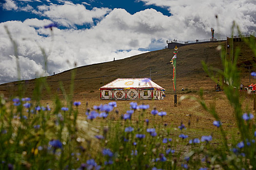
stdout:
[[(15, 41), (9, 37), (17, 50)], [(244, 41), (256, 54), (255, 39)], [(47, 69), (47, 55), (41, 50)], [(52, 110), (41, 104), (42, 89), (46, 88), (50, 94), (45, 77), (37, 79), (32, 100), (22, 98), (22, 92), (14, 99), (0, 95), (0, 169), (256, 169), (256, 126), (252, 114), (244, 114), (241, 107), (238, 53), (235, 50), (234, 59), (228, 61), (222, 51), (224, 70), (204, 63), (203, 67), (216, 83), (222, 79), (226, 82), (219, 83), (233, 106), (239, 141), (227, 139), (214, 104), (207, 105), (204, 101), (203, 90), (199, 99), (183, 96), (181, 100), (196, 100), (211, 113), (222, 136), (222, 143), (217, 146), (211, 143), (209, 134), (202, 136), (201, 141), (186, 136), (191, 131), (189, 127), (185, 130), (182, 122), (179, 129), (164, 124), (166, 113), (156, 108), (151, 110), (149, 120), (145, 119), (149, 106), (137, 106), (134, 102), (126, 114), (113, 111), (116, 103), (109, 102), (95, 106), (94, 110), (87, 109), (87, 121), (79, 119), (81, 103), (73, 101), (74, 69), (70, 91), (66, 93), (60, 84), (64, 102), (56, 96), (52, 99)]]

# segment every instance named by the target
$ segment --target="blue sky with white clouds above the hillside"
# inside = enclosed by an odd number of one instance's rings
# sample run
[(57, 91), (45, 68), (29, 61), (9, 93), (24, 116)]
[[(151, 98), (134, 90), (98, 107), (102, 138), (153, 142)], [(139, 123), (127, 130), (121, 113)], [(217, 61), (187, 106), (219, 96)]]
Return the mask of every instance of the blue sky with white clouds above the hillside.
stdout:
[[(166, 40), (211, 38), (211, 27), (215, 37), (230, 36), (233, 21), (243, 34), (254, 34), (256, 1), (0, 0), (0, 16), (0, 81), (15, 81), (16, 58), (4, 26), (18, 44), (25, 80), (74, 62), (85, 66), (161, 50)], [(52, 32), (43, 28), (53, 22), (58, 27)], [(40, 48), (47, 54), (46, 72)]]

